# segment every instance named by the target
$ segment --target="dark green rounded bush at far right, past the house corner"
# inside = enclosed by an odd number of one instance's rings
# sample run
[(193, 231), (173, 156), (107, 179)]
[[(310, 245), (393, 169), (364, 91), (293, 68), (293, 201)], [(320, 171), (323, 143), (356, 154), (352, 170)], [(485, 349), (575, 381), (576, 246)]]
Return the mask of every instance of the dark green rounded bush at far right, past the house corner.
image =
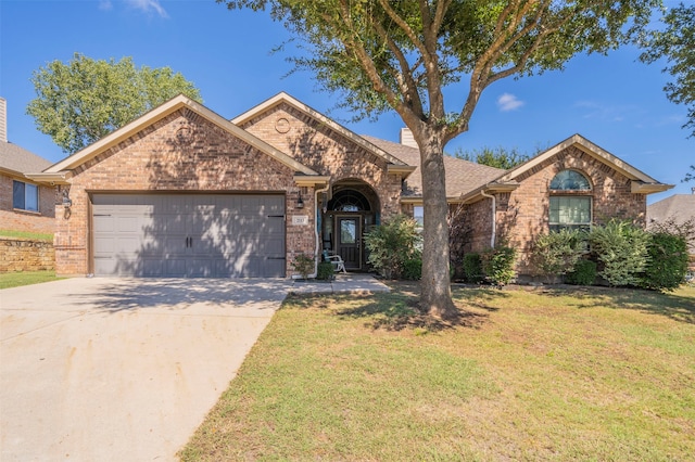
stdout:
[(656, 232), (649, 235), (648, 262), (640, 286), (653, 291), (673, 291), (687, 273), (687, 242), (681, 235)]

